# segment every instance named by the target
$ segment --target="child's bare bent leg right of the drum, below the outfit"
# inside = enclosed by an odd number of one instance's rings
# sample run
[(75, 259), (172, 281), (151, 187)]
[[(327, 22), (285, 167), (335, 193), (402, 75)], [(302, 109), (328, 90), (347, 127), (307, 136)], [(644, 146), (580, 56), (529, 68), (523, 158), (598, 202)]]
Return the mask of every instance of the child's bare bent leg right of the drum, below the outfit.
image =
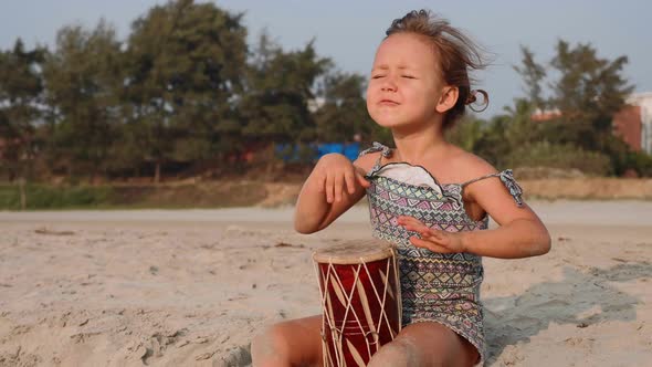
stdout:
[(442, 324), (428, 322), (403, 327), (368, 366), (473, 366), (479, 358), (477, 349), (466, 339)]

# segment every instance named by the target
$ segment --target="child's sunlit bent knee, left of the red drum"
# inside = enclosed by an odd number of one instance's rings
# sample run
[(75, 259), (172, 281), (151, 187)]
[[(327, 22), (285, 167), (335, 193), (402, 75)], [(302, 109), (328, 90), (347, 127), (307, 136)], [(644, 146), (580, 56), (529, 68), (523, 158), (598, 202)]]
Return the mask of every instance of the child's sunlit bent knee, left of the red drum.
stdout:
[(255, 367), (287, 366), (288, 343), (283, 328), (273, 325), (251, 340), (251, 359)]

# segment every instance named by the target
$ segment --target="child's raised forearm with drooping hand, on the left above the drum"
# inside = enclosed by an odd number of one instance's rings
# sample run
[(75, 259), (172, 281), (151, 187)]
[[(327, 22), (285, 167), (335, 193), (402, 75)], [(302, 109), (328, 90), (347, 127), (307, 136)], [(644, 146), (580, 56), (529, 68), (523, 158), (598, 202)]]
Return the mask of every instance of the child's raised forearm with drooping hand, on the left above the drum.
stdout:
[(371, 156), (353, 164), (340, 154), (323, 156), (298, 195), (294, 229), (304, 234), (323, 230), (358, 202), (369, 187), (365, 172), (372, 166)]

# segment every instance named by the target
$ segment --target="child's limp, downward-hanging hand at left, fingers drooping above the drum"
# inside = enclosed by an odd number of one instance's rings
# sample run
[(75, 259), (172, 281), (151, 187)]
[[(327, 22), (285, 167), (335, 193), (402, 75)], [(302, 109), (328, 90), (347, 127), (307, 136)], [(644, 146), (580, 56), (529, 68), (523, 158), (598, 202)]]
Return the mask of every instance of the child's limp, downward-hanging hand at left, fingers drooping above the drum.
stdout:
[(315, 175), (319, 192), (326, 193), (326, 202), (341, 201), (345, 185), (349, 195), (356, 192), (358, 187), (368, 188), (369, 181), (365, 179), (365, 171), (354, 166), (340, 154), (327, 154), (315, 166)]

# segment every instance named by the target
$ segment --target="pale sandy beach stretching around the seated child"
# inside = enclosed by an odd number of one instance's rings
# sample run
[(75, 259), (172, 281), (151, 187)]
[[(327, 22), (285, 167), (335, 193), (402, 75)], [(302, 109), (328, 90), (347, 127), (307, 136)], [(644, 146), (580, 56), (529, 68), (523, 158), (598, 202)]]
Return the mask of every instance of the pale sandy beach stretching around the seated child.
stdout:
[[(553, 250), (484, 259), (488, 366), (652, 360), (652, 202), (536, 201)], [(0, 366), (249, 366), (252, 336), (320, 313), (312, 251), (369, 239), (357, 206), (0, 212)]]

